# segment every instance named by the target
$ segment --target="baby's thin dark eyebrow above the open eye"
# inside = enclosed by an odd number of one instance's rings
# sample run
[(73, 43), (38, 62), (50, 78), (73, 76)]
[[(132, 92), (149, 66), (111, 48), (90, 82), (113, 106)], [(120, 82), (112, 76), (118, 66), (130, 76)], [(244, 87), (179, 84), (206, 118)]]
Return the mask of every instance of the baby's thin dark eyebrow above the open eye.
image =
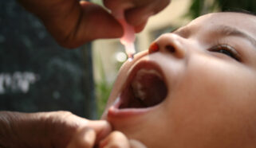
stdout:
[(245, 37), (248, 41), (250, 41), (252, 45), (256, 46), (256, 40), (254, 39), (254, 37), (251, 37), (248, 33), (242, 32), (228, 25), (219, 25), (217, 32), (220, 34), (224, 34), (225, 36)]

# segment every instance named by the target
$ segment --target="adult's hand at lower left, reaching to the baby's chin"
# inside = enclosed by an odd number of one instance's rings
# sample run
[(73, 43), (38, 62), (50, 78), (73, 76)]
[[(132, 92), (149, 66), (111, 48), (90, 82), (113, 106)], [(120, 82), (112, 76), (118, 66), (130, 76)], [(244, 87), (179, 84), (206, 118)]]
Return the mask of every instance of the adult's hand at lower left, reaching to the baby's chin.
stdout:
[(81, 147), (91, 148), (110, 132), (107, 122), (82, 119), (68, 111), (0, 111), (0, 147), (72, 148), (73, 139), (79, 138)]

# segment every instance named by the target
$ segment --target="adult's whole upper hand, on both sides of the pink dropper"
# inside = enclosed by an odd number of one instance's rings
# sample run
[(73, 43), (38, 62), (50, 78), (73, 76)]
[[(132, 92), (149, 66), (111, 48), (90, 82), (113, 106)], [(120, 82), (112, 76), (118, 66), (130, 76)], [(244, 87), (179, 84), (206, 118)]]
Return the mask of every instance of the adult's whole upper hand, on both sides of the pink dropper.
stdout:
[[(97, 38), (121, 37), (122, 26), (96, 4), (78, 0), (18, 0), (26, 10), (41, 18), (56, 41), (75, 48)], [(136, 32), (144, 29), (148, 17), (158, 13), (170, 0), (104, 0), (110, 10), (124, 7), (125, 16)]]

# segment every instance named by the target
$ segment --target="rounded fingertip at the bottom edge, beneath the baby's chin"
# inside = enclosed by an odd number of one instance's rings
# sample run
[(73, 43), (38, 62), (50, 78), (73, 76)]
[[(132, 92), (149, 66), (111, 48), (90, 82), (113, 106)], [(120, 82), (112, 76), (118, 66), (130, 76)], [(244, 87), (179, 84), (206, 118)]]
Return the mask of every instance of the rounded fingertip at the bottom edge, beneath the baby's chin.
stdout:
[(129, 141), (120, 131), (113, 131), (100, 142), (100, 148), (130, 148)]

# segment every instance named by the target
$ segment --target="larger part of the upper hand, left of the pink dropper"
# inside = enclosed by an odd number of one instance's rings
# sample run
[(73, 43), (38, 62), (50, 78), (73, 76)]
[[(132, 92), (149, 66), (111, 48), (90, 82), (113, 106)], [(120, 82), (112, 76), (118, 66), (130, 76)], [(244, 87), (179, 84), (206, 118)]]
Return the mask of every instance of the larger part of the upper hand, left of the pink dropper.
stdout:
[(122, 27), (108, 11), (79, 0), (18, 0), (44, 23), (56, 41), (76, 48), (96, 38), (120, 37)]

